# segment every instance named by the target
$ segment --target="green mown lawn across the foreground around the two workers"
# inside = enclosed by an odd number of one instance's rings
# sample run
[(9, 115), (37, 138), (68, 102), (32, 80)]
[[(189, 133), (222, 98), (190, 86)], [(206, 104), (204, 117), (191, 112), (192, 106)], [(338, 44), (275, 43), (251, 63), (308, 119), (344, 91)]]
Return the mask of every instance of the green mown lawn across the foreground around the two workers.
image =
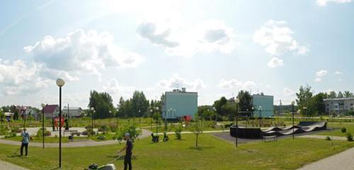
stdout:
[[(133, 149), (134, 169), (297, 169), (332, 154), (354, 147), (354, 142), (307, 138), (285, 138), (278, 142), (250, 142), (238, 148), (212, 135), (200, 135), (200, 147), (195, 147), (195, 135), (182, 135), (183, 140), (151, 143), (149, 138), (137, 140)], [(63, 169), (84, 169), (91, 163), (106, 164), (115, 158), (115, 151), (124, 144), (99, 147), (62, 149)], [(57, 148), (30, 147), (29, 157), (13, 152), (18, 146), (0, 145), (0, 159), (28, 169), (55, 169)], [(115, 162), (122, 169), (123, 160)]]

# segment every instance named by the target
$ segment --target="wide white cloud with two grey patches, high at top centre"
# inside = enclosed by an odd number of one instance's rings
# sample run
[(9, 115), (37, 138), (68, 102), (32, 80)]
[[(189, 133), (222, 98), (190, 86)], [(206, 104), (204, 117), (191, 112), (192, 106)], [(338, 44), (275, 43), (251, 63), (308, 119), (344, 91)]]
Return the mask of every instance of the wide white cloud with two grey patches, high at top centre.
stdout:
[(185, 57), (200, 52), (230, 53), (238, 45), (234, 30), (222, 21), (208, 20), (190, 25), (173, 24), (170, 19), (166, 21), (139, 23), (137, 34), (164, 47), (170, 55)]

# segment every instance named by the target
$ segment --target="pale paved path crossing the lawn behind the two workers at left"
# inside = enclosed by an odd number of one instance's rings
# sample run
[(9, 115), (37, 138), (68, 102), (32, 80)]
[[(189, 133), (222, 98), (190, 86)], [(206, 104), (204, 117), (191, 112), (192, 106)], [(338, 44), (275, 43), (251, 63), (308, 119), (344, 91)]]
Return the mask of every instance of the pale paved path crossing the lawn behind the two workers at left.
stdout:
[[(143, 139), (145, 137), (149, 137), (152, 132), (149, 130), (142, 130), (142, 135), (139, 136), (139, 139)], [(93, 147), (93, 146), (102, 146), (102, 145), (113, 145), (117, 144), (118, 140), (107, 140), (102, 142), (96, 142), (93, 140), (84, 140), (84, 141), (76, 141), (69, 143), (62, 143), (62, 147)], [(123, 141), (122, 141), (123, 142)], [(16, 142), (13, 140), (0, 140), (0, 144), (6, 145), (21, 145), (21, 142)], [(30, 142), (30, 147), (42, 147), (42, 143), (40, 142)], [(45, 147), (59, 147), (57, 143), (45, 143)]]

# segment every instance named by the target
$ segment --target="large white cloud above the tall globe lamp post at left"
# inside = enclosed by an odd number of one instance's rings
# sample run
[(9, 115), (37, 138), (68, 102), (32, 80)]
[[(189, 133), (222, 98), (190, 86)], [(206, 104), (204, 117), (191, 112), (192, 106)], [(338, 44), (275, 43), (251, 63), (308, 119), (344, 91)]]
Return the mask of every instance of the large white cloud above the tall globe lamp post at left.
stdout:
[(43, 67), (43, 74), (77, 79), (81, 73), (101, 75), (107, 67), (137, 67), (144, 58), (113, 44), (113, 35), (76, 30), (63, 38), (50, 35), (23, 47)]

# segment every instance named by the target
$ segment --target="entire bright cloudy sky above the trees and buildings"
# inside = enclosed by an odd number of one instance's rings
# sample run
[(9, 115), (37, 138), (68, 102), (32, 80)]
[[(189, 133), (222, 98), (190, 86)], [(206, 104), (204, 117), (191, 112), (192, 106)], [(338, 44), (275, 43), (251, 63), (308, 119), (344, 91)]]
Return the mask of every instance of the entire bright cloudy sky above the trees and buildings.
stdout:
[(354, 2), (6, 1), (0, 6), (0, 106), (240, 89), (290, 103), (300, 85), (354, 91)]

